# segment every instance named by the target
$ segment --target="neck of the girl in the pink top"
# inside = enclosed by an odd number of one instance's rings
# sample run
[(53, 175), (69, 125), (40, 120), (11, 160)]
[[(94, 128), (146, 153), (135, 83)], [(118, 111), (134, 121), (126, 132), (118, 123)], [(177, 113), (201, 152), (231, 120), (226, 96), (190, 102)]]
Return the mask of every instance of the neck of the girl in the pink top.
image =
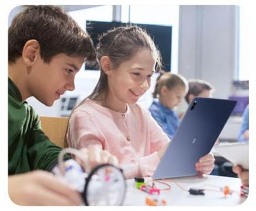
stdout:
[(101, 106), (114, 110), (115, 112), (125, 113), (127, 110), (127, 103), (121, 102), (118, 98), (112, 94), (106, 93), (103, 97), (96, 100)]

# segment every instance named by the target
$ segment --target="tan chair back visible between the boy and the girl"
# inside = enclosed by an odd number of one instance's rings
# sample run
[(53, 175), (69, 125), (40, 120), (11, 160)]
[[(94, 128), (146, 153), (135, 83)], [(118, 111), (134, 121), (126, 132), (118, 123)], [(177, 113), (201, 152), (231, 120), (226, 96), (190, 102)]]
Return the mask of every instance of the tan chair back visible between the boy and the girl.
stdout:
[(68, 117), (41, 116), (42, 130), (49, 137), (50, 141), (59, 147), (67, 147), (65, 136), (68, 129)]

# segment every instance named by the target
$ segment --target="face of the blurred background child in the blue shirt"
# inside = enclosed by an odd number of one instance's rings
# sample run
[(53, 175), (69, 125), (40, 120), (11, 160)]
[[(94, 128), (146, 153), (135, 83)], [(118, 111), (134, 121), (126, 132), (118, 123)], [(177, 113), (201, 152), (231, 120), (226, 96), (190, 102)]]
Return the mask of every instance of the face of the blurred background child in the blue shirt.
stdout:
[(185, 95), (186, 89), (181, 85), (177, 85), (171, 89), (164, 86), (161, 88), (159, 101), (167, 108), (174, 109), (180, 105), (181, 100), (185, 97)]

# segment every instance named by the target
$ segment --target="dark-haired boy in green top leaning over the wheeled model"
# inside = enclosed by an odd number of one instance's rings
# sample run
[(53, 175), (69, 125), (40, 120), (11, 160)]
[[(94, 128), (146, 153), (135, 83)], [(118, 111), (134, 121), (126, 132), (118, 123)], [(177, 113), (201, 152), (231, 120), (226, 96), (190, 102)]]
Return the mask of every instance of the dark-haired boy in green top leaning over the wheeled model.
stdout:
[[(8, 30), (8, 191), (13, 202), (82, 204), (78, 192), (47, 172), (57, 164), (61, 148), (45, 136), (39, 116), (25, 100), (34, 96), (51, 106), (66, 90), (75, 89), (76, 73), (84, 61), (93, 60), (90, 37), (57, 6), (27, 6), (12, 21)], [(117, 162), (97, 147), (81, 151), (89, 155), (92, 165)]]

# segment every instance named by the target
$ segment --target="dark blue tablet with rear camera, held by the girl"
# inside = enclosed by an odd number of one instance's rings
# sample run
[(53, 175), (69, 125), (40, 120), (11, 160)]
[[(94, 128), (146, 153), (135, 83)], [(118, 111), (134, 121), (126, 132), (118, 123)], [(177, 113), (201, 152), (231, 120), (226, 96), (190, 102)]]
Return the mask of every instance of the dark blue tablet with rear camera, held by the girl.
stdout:
[(227, 99), (194, 98), (152, 178), (196, 175), (196, 162), (210, 153), (235, 104)]

